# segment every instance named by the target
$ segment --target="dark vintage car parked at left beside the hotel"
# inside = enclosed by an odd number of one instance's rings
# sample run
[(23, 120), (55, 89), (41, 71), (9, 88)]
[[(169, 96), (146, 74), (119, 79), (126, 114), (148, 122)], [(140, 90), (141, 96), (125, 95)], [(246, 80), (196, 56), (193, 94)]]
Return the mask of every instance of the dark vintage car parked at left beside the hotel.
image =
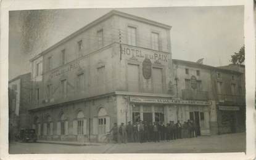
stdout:
[(22, 140), (22, 142), (29, 142), (29, 141), (36, 142), (36, 140), (37, 140), (36, 130), (35, 129), (20, 129), (19, 138), (20, 138), (20, 140)]

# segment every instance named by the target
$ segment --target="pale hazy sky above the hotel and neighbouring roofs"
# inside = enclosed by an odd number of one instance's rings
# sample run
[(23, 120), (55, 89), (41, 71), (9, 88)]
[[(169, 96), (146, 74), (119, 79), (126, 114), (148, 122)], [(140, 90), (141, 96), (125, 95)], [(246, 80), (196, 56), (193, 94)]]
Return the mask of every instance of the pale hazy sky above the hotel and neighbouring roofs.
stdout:
[[(9, 79), (30, 72), (29, 59), (112, 9), (11, 11)], [(116, 9), (171, 28), (172, 57), (228, 65), (244, 45), (244, 7), (146, 7)]]

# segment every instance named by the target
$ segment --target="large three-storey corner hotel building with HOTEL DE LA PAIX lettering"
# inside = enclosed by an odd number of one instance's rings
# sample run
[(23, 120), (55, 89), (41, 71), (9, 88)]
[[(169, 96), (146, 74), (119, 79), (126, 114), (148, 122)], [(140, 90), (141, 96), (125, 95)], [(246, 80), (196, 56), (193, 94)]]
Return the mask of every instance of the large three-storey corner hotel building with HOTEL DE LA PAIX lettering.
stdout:
[(209, 105), (175, 98), (170, 30), (112, 10), (33, 57), (38, 138), (102, 142), (115, 122), (166, 124), (184, 104)]

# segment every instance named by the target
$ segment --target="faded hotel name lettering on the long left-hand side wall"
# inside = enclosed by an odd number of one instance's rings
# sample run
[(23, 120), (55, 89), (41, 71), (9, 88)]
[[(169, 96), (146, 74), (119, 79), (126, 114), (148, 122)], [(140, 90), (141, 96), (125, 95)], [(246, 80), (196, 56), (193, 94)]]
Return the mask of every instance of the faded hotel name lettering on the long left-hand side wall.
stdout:
[(69, 71), (76, 70), (80, 66), (79, 63), (80, 63), (79, 61), (75, 61), (73, 63), (68, 64), (67, 66), (64, 66), (64, 68), (54, 70), (50, 73), (49, 78), (55, 78), (55, 77), (59, 76), (60, 74), (64, 74)]

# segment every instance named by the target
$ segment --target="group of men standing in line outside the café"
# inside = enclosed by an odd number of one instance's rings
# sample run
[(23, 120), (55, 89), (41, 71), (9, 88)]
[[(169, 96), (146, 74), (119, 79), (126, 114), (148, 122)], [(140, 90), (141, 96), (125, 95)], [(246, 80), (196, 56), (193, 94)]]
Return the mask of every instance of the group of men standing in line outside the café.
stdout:
[[(170, 121), (167, 125), (163, 122), (146, 122), (139, 121), (128, 122), (128, 125), (125, 126), (124, 123), (117, 126), (117, 123), (114, 124), (114, 127), (110, 130), (113, 132), (113, 140), (117, 142), (160, 142), (160, 140), (175, 140), (177, 138), (191, 138), (197, 137), (197, 127), (196, 123), (188, 119), (183, 124), (180, 121), (176, 123)], [(118, 140), (119, 139), (119, 140)]]

